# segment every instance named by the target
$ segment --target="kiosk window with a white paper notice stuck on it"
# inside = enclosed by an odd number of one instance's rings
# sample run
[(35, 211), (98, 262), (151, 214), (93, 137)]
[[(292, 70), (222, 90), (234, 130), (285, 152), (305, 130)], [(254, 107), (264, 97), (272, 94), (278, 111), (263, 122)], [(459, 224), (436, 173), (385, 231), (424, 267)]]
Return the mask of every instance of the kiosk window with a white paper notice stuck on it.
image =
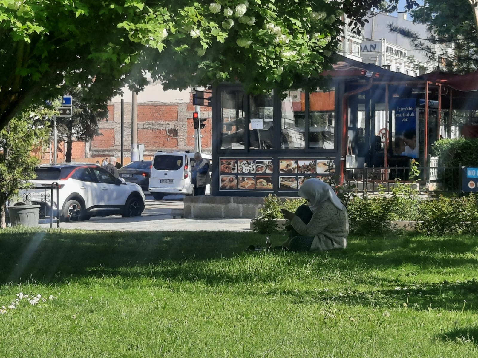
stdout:
[(274, 148), (273, 123), (272, 96), (250, 96), (249, 149)]

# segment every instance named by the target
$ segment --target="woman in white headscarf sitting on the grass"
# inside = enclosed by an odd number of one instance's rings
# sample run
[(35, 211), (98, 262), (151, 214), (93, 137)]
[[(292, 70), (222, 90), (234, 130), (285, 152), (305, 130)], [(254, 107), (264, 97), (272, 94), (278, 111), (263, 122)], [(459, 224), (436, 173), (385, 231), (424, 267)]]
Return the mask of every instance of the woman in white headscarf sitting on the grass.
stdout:
[[(307, 179), (299, 189), (299, 196), (307, 200), (312, 218), (297, 216), (282, 209), (284, 218), (291, 221), (297, 236), (282, 244), (291, 251), (324, 251), (345, 249), (347, 247), (348, 216), (347, 209), (338, 199), (330, 185), (320, 179)], [(302, 210), (302, 212), (304, 212)]]

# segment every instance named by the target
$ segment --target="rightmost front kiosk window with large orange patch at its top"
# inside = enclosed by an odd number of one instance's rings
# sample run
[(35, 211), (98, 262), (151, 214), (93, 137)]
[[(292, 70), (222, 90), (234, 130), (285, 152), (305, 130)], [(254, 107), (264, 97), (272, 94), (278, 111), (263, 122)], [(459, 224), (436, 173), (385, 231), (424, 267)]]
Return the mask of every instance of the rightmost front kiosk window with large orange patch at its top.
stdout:
[(309, 93), (309, 148), (333, 149), (335, 145), (335, 90), (317, 88)]

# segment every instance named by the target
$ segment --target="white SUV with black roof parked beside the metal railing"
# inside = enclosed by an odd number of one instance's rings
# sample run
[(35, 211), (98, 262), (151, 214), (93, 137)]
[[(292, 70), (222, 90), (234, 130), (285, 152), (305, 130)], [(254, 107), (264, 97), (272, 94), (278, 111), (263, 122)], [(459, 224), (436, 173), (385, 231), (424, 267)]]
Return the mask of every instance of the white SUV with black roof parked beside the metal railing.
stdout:
[[(19, 201), (40, 204), (45, 215), (53, 206), (53, 215), (60, 220), (88, 220), (92, 216), (121, 214), (141, 216), (144, 194), (138, 184), (115, 178), (107, 170), (91, 163), (62, 163), (35, 168), (37, 178), (32, 187), (20, 190)], [(51, 185), (59, 185), (51, 197)], [(42, 188), (44, 188), (42, 190)], [(42, 210), (42, 211), (43, 211)]]

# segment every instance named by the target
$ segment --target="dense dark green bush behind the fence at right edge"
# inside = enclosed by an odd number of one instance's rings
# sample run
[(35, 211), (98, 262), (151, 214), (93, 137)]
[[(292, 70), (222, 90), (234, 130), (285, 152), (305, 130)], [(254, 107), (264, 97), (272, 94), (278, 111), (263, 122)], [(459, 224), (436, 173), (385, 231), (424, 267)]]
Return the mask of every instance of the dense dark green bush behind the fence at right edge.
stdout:
[(454, 167), (440, 170), (438, 179), (444, 183), (445, 189), (456, 190), (460, 185), (460, 164), (465, 167), (478, 165), (478, 139), (440, 139), (433, 144), (431, 153), (440, 159), (441, 167)]

